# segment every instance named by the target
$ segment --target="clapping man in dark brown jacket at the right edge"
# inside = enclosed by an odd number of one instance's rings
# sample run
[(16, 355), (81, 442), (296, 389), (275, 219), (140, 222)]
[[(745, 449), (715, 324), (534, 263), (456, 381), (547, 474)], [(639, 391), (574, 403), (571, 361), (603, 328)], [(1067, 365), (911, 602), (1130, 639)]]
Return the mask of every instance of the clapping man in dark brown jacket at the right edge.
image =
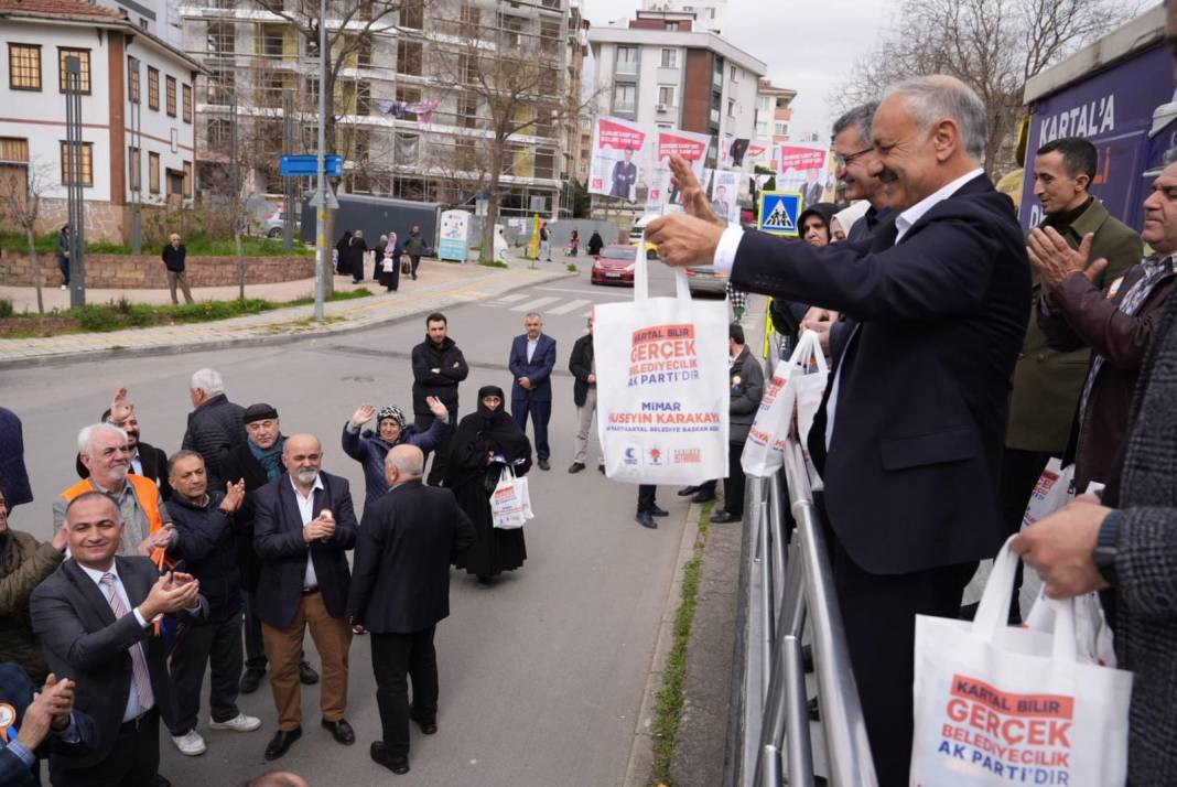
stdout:
[[(1144, 236), (1152, 246), (1105, 294), (1093, 281), (1102, 259), (1090, 236), (1079, 248), (1060, 242), (1049, 229), (1029, 238), (1030, 260), (1046, 289), (1038, 321), (1051, 346), (1060, 349), (1090, 347), (1096, 355), (1082, 389), (1077, 428), (1065, 459), (1075, 460), (1075, 482), (1106, 482), (1112, 458), (1124, 441), (1136, 379), (1152, 341), (1164, 304), (1177, 281), (1177, 214), (1161, 209), (1161, 191), (1177, 189), (1177, 164), (1157, 178), (1144, 201)], [(1095, 260), (1090, 266), (1089, 260)]]

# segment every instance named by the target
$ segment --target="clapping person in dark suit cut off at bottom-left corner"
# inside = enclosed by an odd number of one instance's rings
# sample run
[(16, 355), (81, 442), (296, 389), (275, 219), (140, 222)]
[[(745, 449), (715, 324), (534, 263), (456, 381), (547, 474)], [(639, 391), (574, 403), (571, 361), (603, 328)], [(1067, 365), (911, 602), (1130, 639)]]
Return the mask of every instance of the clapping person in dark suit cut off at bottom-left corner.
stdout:
[(74, 711), (74, 682), (49, 674), (38, 693), (25, 668), (0, 663), (0, 702), (14, 714), (0, 719), (0, 785), (41, 783), (41, 759), (52, 754), (81, 756), (94, 745), (94, 721)]

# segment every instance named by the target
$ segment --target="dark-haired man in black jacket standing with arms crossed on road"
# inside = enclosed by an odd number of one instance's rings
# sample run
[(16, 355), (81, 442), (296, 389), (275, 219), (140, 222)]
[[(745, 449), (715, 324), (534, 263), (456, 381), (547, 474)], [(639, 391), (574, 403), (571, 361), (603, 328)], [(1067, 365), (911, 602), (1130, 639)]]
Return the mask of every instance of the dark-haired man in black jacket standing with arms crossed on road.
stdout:
[[(435, 420), (428, 398), (437, 396), (450, 414), (450, 423), (458, 422), (458, 385), (470, 374), (466, 356), (448, 335), (445, 314), (434, 312), (425, 318), (425, 341), (413, 347), (413, 426), (426, 432)], [(444, 435), (433, 447), (428, 485), (441, 486), (450, 459), (450, 435)]]

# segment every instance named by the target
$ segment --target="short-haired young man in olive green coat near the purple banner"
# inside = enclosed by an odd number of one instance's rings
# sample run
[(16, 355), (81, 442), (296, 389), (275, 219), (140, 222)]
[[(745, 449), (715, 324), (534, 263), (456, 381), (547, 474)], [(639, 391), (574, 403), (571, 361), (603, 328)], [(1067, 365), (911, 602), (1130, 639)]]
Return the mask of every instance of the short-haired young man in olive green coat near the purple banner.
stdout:
[[(1078, 248), (1092, 234), (1091, 260), (1105, 258), (1108, 267), (1093, 279), (1100, 289), (1116, 287), (1124, 273), (1141, 261), (1141, 238), (1108, 214), (1088, 188), (1097, 171), (1096, 148), (1085, 139), (1055, 140), (1035, 156), (1035, 195), (1046, 218), (1039, 225), (1053, 227)], [(1031, 271), (1035, 312), (1042, 300), (1042, 282)], [(1025, 342), (1013, 371), (1010, 423), (999, 479), (1002, 508), (1010, 533), (1022, 525), (1022, 514), (1038, 476), (1051, 456), (1062, 456), (1071, 421), (1086, 378), (1091, 352), (1086, 348), (1059, 353), (1046, 346), (1046, 336), (1031, 312)], [(1015, 595), (1016, 598), (1016, 595)]]

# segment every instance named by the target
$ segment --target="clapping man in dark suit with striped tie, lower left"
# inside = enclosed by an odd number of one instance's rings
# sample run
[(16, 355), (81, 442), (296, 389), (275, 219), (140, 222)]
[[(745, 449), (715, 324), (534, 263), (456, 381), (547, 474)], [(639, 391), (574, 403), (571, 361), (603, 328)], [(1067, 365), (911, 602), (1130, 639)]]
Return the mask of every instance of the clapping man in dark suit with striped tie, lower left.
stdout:
[(188, 574), (159, 575), (147, 558), (115, 556), (122, 520), (114, 500), (86, 492), (66, 511), (68, 558), (29, 600), (33, 631), (54, 674), (77, 683), (75, 707), (94, 720), (93, 751), (53, 755), (58, 787), (151, 787), (159, 769), (159, 719), (174, 715), (159, 619), (202, 616), (200, 585)]

